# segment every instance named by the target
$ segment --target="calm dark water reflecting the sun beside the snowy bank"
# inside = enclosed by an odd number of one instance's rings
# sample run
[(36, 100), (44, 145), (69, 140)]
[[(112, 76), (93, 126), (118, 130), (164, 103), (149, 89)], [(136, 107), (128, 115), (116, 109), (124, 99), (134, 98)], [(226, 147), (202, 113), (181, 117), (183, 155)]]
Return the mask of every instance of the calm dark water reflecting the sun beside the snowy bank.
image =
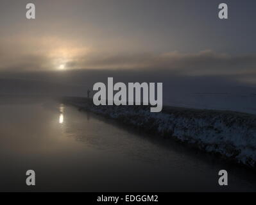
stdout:
[(0, 104), (0, 173), (0, 191), (256, 190), (251, 170), (50, 101)]

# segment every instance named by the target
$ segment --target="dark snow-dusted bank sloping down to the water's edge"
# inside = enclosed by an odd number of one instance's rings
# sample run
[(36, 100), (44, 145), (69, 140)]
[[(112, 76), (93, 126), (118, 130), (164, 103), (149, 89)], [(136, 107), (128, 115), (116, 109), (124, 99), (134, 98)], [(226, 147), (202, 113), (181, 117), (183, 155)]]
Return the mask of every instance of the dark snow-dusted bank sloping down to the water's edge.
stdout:
[(94, 106), (90, 100), (74, 97), (67, 97), (64, 102), (255, 167), (255, 115), (169, 106), (161, 113), (151, 113), (148, 106)]

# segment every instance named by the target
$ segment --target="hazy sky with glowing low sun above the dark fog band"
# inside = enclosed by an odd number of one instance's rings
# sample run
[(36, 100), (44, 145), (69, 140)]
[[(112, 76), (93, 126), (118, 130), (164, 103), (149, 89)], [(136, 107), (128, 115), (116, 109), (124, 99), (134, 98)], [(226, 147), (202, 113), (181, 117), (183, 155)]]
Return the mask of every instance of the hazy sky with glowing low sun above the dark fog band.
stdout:
[[(36, 19), (26, 19), (27, 3)], [(228, 4), (226, 20), (219, 3)], [(255, 86), (255, 9), (253, 0), (1, 0), (0, 74), (47, 72), (75, 83), (92, 73), (140, 81), (148, 74)]]

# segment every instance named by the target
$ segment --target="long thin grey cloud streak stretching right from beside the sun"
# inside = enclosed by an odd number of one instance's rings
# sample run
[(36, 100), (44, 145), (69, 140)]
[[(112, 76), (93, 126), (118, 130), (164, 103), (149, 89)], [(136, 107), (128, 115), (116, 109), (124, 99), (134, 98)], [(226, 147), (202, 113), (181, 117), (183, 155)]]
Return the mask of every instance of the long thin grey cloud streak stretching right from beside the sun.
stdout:
[(231, 56), (210, 50), (189, 54), (92, 54), (85, 58), (88, 60), (80, 61), (81, 68), (176, 70), (182, 74), (196, 76), (254, 73), (256, 65), (255, 54)]

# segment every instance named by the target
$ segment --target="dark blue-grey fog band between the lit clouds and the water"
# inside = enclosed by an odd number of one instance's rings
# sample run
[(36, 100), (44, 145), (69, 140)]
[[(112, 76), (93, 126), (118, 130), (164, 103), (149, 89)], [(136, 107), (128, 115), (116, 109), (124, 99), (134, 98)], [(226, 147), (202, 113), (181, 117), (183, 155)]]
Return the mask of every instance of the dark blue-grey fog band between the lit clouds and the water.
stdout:
[(94, 83), (107, 85), (108, 77), (113, 77), (114, 83), (162, 82), (166, 105), (256, 113), (255, 86), (236, 76), (187, 76), (161, 69), (3, 72), (0, 94), (85, 97)]

